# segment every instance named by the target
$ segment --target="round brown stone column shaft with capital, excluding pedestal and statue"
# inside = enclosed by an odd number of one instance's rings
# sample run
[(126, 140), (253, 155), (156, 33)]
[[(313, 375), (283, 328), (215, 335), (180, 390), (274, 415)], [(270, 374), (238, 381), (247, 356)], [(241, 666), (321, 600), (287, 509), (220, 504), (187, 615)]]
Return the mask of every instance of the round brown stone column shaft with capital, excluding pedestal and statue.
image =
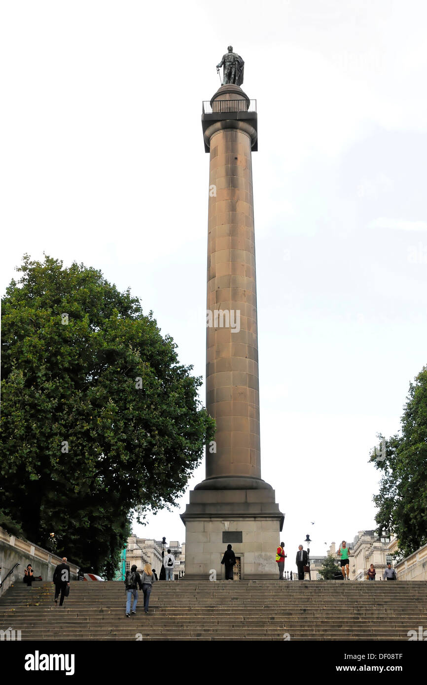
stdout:
[[(236, 103), (236, 101), (239, 101)], [(241, 103), (240, 103), (241, 101)], [(261, 480), (252, 145), (256, 113), (239, 86), (210, 101), (206, 408), (217, 421), (196, 489), (269, 488)], [(218, 119), (239, 110), (250, 119)], [(215, 121), (216, 119), (216, 121)]]

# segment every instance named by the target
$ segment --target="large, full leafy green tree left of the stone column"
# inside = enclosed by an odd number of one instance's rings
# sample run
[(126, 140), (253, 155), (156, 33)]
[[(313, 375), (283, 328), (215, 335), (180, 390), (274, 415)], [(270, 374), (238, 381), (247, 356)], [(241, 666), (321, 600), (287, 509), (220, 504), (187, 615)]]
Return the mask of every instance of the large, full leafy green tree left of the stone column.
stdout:
[(18, 271), (2, 307), (3, 523), (112, 577), (133, 512), (175, 503), (215, 421), (129, 290), (48, 256)]

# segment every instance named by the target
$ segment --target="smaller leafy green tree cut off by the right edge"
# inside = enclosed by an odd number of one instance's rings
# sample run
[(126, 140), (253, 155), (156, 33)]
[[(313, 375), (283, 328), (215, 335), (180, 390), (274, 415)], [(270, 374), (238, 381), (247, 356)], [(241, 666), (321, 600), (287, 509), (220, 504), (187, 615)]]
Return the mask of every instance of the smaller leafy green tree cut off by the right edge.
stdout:
[(371, 462), (382, 472), (374, 495), (378, 533), (394, 532), (408, 556), (427, 543), (427, 366), (409, 386), (400, 434), (386, 440), (385, 453), (374, 453)]

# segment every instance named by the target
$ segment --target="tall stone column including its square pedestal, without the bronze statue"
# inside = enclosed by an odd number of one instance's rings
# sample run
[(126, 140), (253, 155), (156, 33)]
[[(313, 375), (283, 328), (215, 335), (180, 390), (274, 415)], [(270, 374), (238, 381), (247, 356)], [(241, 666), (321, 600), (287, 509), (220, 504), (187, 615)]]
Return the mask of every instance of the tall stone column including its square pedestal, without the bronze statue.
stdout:
[(206, 449), (206, 479), (181, 514), (185, 579), (221, 578), (231, 543), (242, 577), (278, 578), (284, 516), (261, 479), (258, 331), (252, 151), (256, 112), (239, 86), (221, 86), (202, 115), (210, 153), (206, 408), (217, 421), (216, 450)]

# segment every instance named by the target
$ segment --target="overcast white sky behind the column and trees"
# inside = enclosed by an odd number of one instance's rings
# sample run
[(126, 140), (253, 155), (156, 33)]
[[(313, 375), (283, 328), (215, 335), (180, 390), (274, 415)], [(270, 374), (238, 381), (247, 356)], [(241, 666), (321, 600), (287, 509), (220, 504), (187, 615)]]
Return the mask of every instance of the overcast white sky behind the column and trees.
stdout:
[[(95, 266), (154, 311), (195, 375), (202, 100), (230, 43), (245, 60), (261, 463), (286, 514), (285, 569), (307, 533), (323, 554), (374, 527), (369, 451), (398, 431), (426, 363), (426, 25), (422, 0), (1, 6), (1, 291), (25, 251)], [(203, 478), (204, 464), (188, 489)], [(182, 542), (187, 501), (135, 532)]]

